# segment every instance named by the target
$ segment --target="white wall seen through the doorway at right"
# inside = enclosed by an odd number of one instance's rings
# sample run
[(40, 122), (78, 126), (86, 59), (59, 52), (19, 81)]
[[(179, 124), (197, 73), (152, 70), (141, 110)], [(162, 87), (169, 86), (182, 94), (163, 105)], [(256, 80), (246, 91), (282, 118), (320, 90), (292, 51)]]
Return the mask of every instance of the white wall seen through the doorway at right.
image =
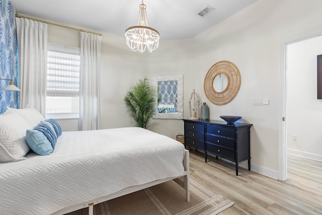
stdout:
[(319, 54), (322, 36), (287, 46), (286, 132), (289, 154), (322, 161), (322, 100), (316, 94)]

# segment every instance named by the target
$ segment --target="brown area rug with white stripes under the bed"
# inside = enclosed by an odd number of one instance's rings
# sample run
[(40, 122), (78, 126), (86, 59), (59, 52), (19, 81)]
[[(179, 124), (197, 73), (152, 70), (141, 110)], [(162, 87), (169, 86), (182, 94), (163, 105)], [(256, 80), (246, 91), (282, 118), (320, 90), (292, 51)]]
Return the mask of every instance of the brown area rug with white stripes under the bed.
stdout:
[[(217, 214), (234, 202), (190, 179), (190, 201), (186, 191), (174, 181), (140, 190), (94, 205), (96, 215), (135, 214)], [(68, 215), (86, 215), (88, 208)]]

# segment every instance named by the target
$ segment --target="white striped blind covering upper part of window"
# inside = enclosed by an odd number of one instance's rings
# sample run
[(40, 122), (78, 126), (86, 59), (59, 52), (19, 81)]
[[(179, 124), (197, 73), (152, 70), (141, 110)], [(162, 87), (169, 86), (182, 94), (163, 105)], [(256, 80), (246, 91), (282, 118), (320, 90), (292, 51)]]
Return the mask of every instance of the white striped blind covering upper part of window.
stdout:
[(79, 96), (80, 54), (79, 47), (48, 44), (47, 96)]

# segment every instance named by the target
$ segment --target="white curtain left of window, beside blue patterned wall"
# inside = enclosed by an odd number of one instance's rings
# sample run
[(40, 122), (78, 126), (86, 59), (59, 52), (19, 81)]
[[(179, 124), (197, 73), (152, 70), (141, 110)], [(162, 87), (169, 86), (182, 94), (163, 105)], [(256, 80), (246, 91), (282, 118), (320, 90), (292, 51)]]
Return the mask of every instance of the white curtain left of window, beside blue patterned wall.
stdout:
[(16, 18), (16, 24), (21, 89), (19, 107), (32, 106), (45, 116), (47, 24), (24, 18)]

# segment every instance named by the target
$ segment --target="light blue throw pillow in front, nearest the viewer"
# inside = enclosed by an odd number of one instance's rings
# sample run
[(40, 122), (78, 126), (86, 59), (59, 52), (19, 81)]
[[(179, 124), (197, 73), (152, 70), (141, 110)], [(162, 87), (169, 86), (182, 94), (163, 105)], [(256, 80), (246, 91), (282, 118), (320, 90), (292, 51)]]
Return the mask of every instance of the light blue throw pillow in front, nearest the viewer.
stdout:
[(38, 155), (49, 155), (55, 149), (57, 137), (50, 126), (39, 123), (34, 129), (26, 131), (26, 141)]

